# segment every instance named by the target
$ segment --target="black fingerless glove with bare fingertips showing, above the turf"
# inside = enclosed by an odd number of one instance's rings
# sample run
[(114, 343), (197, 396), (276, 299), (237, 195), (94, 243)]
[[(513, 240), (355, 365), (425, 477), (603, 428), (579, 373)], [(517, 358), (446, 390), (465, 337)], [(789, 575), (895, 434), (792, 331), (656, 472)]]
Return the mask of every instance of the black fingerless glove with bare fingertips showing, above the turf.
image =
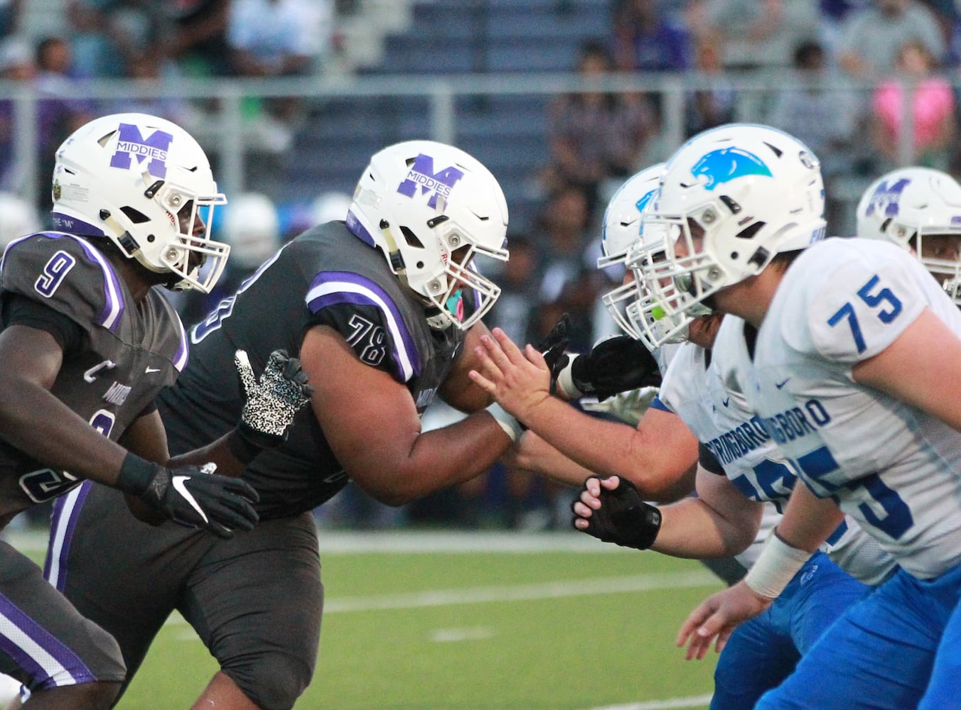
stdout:
[[(601, 480), (598, 476), (591, 476), (587, 481), (592, 478), (599, 482)], [(586, 485), (584, 482), (583, 488)], [(575, 504), (579, 500), (580, 495), (575, 499)], [(632, 483), (622, 477), (620, 485), (614, 490), (607, 490), (602, 485), (600, 500), (601, 508), (592, 509), (589, 518), (580, 518), (575, 513), (574, 522), (578, 519), (587, 521), (587, 528), (580, 532), (637, 550), (647, 550), (653, 545), (660, 531), (660, 510), (641, 500), (640, 493)], [(580, 529), (575, 527), (575, 530)]]

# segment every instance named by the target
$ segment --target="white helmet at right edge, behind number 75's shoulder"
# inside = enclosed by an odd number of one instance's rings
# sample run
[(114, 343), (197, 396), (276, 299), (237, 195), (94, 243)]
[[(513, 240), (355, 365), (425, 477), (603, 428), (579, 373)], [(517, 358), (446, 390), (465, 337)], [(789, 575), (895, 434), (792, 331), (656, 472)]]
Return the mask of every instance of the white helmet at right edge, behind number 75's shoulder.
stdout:
[(908, 167), (877, 178), (857, 203), (857, 236), (912, 252), (961, 305), (961, 184), (947, 173)]

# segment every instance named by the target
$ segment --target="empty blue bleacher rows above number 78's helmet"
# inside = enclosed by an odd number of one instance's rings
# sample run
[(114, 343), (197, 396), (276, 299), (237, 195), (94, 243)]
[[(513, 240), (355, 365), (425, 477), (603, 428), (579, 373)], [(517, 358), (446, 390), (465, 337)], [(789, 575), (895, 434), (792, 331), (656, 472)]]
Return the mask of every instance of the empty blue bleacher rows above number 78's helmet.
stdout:
[[(610, 31), (608, 0), (432, 0), (415, 2), (406, 30), (385, 38), (364, 76), (557, 71), (575, 68), (579, 45)], [(456, 144), (501, 180), (511, 231), (530, 227), (539, 203), (535, 173), (548, 158), (550, 94), (458, 96)], [(316, 102), (296, 137), (286, 183), (295, 198), (353, 190), (357, 170), (388, 143), (430, 137), (427, 97)]]

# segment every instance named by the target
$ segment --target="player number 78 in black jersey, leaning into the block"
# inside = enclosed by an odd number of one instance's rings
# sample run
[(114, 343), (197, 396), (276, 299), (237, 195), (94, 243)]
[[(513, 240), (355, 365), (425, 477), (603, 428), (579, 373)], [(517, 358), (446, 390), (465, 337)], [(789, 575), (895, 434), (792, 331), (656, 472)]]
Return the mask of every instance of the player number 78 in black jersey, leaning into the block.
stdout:
[[(220, 671), (196, 707), (283, 710), (308, 686), (323, 605), (312, 509), (349, 483), (404, 505), (484, 472), (520, 431), (467, 376), (500, 294), (476, 262), (507, 258), (497, 180), (454, 147), (408, 141), (373, 155), (344, 217), (293, 239), (192, 327), (190, 363), (160, 396), (171, 450), (186, 451), (240, 412), (236, 348), (256, 364), (278, 346), (300, 357), (311, 408), (243, 473), (257, 528), (226, 542), (148, 533), (102, 486), (55, 513), (49, 579), (116, 636), (128, 676), (171, 611), (197, 630)], [(471, 414), (422, 433), (435, 397)]]

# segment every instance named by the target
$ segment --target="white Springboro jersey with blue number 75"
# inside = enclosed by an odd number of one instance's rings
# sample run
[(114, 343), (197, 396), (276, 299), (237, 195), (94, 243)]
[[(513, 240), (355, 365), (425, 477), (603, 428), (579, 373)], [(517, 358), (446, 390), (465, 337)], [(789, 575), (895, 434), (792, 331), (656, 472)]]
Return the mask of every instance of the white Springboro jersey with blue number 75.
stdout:
[[(957, 307), (917, 259), (884, 242), (828, 239), (785, 273), (753, 362), (743, 337), (733, 354), (749, 405), (804, 483), (931, 579), (961, 562), (961, 433), (851, 376), (924, 308), (961, 335)], [(726, 319), (726, 356), (743, 327)]]

